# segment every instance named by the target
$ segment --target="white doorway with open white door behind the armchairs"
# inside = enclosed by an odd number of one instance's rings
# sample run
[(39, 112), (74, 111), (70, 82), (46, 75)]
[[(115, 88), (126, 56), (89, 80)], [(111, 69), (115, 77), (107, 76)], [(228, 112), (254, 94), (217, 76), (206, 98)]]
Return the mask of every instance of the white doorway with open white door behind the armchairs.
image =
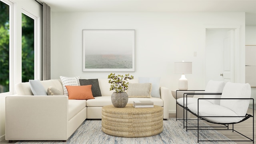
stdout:
[(234, 30), (206, 29), (205, 83), (234, 82)]

